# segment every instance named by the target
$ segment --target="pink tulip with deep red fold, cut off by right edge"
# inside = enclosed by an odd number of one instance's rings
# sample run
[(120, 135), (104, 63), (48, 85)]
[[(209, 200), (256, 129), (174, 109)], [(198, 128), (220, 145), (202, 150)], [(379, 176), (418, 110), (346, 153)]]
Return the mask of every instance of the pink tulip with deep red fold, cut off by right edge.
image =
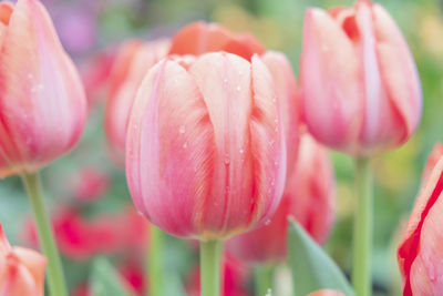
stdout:
[[(431, 157), (430, 162), (434, 160)], [(443, 157), (440, 157), (421, 188), (399, 246), (404, 296), (440, 295), (443, 290), (442, 191)]]

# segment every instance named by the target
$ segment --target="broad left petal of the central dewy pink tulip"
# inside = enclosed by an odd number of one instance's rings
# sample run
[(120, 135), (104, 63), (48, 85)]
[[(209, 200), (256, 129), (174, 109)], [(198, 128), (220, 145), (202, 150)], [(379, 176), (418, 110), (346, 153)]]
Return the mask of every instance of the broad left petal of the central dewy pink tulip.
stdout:
[(159, 62), (138, 89), (127, 130), (126, 178), (135, 204), (164, 231), (197, 236), (215, 155), (194, 79), (173, 61)]

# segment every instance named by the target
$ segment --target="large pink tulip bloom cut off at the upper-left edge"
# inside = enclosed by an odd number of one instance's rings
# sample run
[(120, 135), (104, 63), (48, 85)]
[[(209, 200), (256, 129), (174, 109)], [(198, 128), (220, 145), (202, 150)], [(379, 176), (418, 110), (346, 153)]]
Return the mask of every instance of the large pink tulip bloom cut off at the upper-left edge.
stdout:
[(80, 76), (37, 0), (0, 3), (0, 176), (33, 173), (83, 130)]

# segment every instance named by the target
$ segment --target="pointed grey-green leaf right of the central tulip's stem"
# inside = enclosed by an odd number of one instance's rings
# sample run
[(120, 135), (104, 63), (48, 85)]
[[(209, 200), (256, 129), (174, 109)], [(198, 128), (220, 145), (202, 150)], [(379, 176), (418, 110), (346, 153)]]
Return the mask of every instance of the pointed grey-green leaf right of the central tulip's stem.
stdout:
[(348, 279), (331, 257), (295, 221), (289, 221), (288, 256), (296, 295), (330, 288), (353, 296)]

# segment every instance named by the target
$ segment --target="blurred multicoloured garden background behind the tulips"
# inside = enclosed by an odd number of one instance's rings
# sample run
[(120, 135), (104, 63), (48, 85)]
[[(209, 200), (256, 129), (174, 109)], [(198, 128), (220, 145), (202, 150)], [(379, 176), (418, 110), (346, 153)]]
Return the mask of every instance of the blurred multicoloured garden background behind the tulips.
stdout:
[[(66, 51), (82, 72), (90, 114), (81, 143), (42, 172), (47, 201), (56, 224), (69, 285), (86, 295), (91, 261), (107, 256), (136, 290), (143, 288), (146, 225), (131, 207), (124, 173), (109, 157), (103, 103), (113, 52), (130, 38), (171, 37), (181, 27), (206, 20), (234, 31), (250, 31), (267, 48), (284, 51), (298, 72), (302, 19), (307, 7), (350, 6), (339, 0), (44, 0)], [(416, 134), (400, 150), (374, 161), (375, 220), (373, 279), (375, 295), (401, 295), (395, 247), (420, 187), (421, 171), (434, 143), (443, 139), (443, 1), (380, 1), (401, 27), (418, 63), (423, 118)], [(353, 164), (331, 152), (338, 182), (337, 223), (326, 245), (349, 274)], [(0, 181), (0, 223), (12, 244), (35, 246), (30, 207), (18, 177)], [(196, 282), (195, 247), (167, 237), (167, 295), (185, 295)], [(228, 271), (229, 295), (248, 295), (246, 267)], [(245, 275), (246, 274), (246, 275)], [(230, 277), (229, 277), (230, 276)], [(238, 284), (241, 280), (243, 283)]]

